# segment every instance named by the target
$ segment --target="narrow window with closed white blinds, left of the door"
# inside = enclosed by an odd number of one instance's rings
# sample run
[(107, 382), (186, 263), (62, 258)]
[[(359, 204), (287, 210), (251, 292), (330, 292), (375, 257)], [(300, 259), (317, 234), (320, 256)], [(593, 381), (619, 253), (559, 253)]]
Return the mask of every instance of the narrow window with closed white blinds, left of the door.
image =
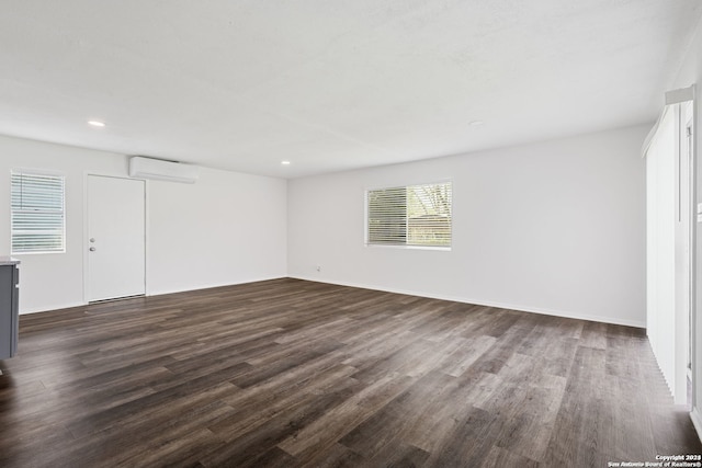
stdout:
[(65, 252), (64, 176), (12, 172), (12, 253)]

